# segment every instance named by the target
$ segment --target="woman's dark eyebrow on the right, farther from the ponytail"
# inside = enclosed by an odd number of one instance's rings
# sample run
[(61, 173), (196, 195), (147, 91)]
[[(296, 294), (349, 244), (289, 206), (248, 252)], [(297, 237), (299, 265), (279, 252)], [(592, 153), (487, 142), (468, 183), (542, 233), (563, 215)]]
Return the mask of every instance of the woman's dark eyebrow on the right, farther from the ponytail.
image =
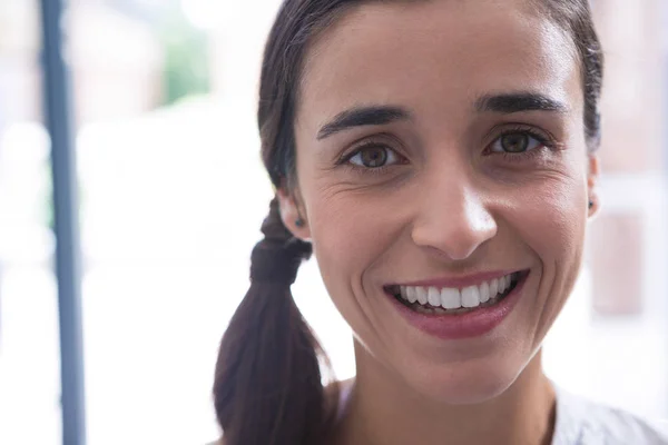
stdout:
[(475, 101), (479, 112), (491, 111), (510, 115), (522, 111), (554, 111), (564, 113), (568, 106), (559, 100), (536, 92), (485, 95)]

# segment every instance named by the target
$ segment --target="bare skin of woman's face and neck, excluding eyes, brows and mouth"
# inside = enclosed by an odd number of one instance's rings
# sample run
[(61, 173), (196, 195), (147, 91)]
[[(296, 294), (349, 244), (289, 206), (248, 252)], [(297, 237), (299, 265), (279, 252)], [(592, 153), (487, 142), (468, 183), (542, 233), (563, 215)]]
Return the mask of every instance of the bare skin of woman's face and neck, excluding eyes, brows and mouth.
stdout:
[[(485, 95), (527, 91), (564, 109), (475, 107)], [(342, 111), (367, 105), (411, 117), (318, 139)], [(355, 335), (355, 387), (333, 443), (550, 442), (554, 393), (540, 347), (573, 288), (598, 207), (582, 116), (573, 43), (524, 0), (369, 3), (318, 36), (295, 121), (297, 185), (278, 195), (284, 222), (313, 243)], [(498, 151), (504, 131), (527, 130), (549, 142)], [(341, 161), (367, 141), (376, 146), (365, 150), (389, 156), (385, 168)], [(523, 269), (513, 312), (475, 338), (418, 330), (383, 291)]]

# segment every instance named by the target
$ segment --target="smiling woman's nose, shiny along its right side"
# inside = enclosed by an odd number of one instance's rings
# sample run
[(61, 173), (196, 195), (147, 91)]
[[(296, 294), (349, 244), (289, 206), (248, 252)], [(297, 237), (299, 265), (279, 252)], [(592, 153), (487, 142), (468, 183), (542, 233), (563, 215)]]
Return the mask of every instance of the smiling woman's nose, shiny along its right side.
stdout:
[(461, 172), (450, 178), (441, 176), (431, 184), (419, 200), (413, 243), (450, 260), (468, 259), (498, 230), (484, 194)]

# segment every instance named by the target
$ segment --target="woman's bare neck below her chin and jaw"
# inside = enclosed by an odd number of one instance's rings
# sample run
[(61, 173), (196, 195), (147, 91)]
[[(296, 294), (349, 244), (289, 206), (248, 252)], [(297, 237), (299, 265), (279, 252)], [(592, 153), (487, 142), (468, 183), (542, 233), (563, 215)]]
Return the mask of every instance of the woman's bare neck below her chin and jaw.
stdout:
[(355, 344), (357, 376), (333, 443), (400, 445), (551, 443), (556, 395), (540, 352), (502, 395), (477, 405), (443, 405), (418, 397)]

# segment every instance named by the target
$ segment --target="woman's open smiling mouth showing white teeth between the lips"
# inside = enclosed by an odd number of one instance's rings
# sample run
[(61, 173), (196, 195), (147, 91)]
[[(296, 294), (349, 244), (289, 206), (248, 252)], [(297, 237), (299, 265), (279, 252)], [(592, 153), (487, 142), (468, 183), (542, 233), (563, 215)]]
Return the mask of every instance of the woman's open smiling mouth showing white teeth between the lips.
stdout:
[(392, 285), (385, 286), (385, 291), (416, 313), (466, 314), (499, 304), (512, 294), (528, 275), (529, 270), (517, 271), (464, 288)]

